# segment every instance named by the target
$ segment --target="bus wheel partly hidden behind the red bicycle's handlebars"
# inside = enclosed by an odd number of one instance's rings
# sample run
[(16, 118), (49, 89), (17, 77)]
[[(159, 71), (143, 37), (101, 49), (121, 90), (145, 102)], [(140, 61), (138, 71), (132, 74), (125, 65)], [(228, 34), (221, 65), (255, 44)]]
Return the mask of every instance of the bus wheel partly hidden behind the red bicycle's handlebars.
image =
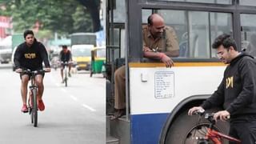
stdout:
[[(206, 110), (207, 113), (216, 112), (218, 109)], [(181, 144), (198, 144), (199, 138), (203, 138), (206, 134), (207, 126), (210, 122), (201, 118), (198, 123), (198, 115), (187, 115), (188, 110), (182, 112), (174, 120), (170, 126), (167, 134), (165, 144), (181, 143)], [(230, 125), (228, 122), (216, 122), (214, 130), (217, 130), (223, 134), (228, 134)], [(228, 143), (227, 140), (222, 140), (223, 143)], [(213, 142), (209, 142), (210, 144)]]

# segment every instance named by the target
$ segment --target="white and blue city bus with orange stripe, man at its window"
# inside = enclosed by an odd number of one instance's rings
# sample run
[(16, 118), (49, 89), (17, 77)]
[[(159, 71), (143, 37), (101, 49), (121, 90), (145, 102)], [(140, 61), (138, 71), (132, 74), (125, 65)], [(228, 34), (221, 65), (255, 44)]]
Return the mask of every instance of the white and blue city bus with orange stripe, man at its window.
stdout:
[[(153, 13), (178, 36), (171, 68), (142, 56), (142, 25)], [(226, 68), (211, 48), (214, 38), (230, 34), (239, 51), (256, 56), (255, 22), (254, 0), (107, 0), (106, 143), (193, 143), (189, 132), (198, 118), (187, 111), (214, 93)], [(126, 115), (113, 121), (114, 70), (123, 64)], [(216, 129), (227, 134), (229, 124), (218, 122)]]

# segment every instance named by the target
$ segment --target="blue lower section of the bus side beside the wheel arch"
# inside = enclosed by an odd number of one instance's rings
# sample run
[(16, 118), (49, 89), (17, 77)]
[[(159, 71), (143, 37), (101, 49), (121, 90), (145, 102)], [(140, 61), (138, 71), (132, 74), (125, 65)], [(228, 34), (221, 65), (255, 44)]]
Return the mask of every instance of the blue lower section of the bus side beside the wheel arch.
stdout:
[(157, 144), (168, 114), (131, 115), (131, 143)]

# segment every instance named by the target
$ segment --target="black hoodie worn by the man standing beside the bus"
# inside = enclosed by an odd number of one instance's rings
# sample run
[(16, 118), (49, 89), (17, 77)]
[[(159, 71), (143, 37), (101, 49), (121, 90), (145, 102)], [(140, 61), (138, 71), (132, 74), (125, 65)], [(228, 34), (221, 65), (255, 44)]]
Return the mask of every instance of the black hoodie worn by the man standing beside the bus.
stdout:
[(201, 105), (204, 109), (222, 106), (231, 118), (245, 114), (256, 115), (256, 60), (239, 54), (226, 67), (218, 90)]

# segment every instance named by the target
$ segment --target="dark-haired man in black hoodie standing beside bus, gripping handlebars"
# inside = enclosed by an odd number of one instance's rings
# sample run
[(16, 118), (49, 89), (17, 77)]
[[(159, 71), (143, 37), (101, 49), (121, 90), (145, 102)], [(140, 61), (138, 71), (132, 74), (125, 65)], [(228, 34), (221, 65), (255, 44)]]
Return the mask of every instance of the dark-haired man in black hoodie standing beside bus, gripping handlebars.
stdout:
[[(238, 138), (242, 144), (256, 142), (256, 61), (245, 52), (238, 52), (234, 39), (228, 34), (219, 35), (212, 47), (217, 50), (218, 58), (229, 64), (224, 72), (218, 89), (202, 103), (188, 112), (221, 107), (214, 114), (226, 121), (230, 116), (230, 136)], [(230, 142), (232, 143), (232, 142)]]

